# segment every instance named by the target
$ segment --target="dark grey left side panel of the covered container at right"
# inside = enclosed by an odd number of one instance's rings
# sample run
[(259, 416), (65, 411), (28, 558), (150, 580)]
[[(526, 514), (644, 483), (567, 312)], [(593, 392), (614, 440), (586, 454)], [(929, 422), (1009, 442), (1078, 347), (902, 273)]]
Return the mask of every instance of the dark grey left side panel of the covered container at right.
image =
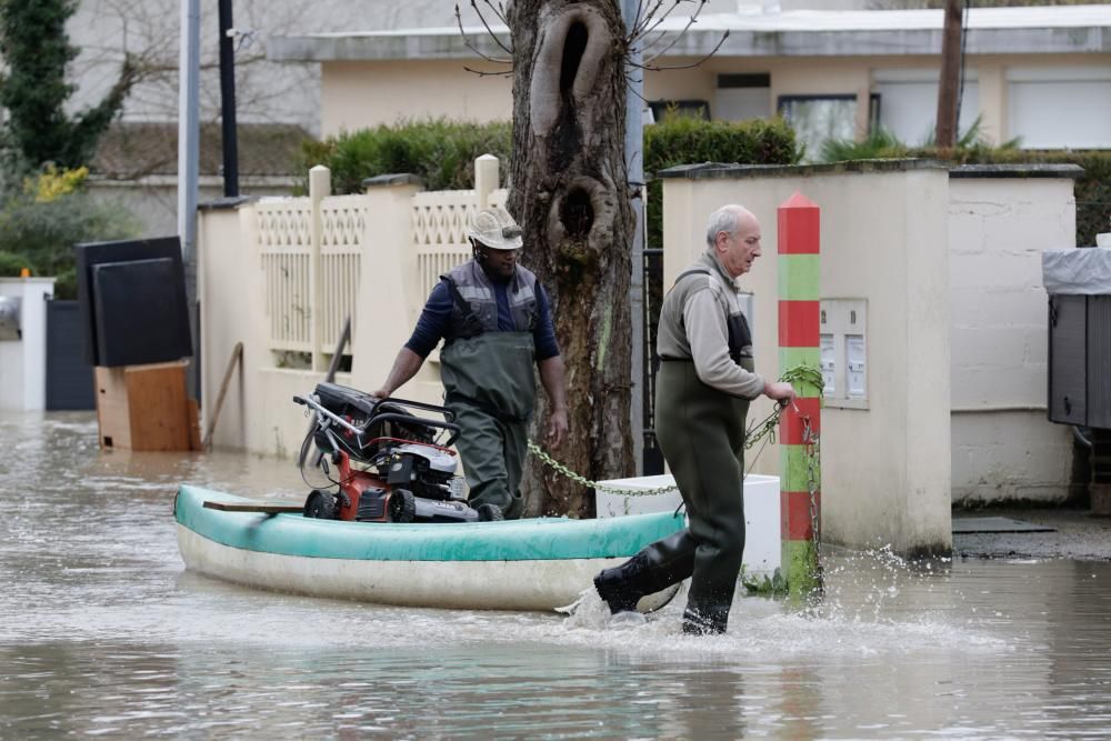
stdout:
[(1053, 296), (1049, 304), (1049, 419), (1087, 424), (1088, 303), (1083, 296)]

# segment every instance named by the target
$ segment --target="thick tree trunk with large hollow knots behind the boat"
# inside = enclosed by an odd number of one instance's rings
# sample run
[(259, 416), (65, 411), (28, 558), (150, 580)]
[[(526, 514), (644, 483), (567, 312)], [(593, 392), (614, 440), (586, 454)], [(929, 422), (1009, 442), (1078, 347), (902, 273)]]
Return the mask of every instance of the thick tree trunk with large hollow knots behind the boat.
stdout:
[[(514, 0), (509, 211), (552, 299), (570, 437), (551, 451), (588, 479), (632, 473), (624, 23), (617, 0)], [(544, 399), (532, 439), (547, 429)], [(529, 514), (592, 517), (591, 490), (529, 457)]]

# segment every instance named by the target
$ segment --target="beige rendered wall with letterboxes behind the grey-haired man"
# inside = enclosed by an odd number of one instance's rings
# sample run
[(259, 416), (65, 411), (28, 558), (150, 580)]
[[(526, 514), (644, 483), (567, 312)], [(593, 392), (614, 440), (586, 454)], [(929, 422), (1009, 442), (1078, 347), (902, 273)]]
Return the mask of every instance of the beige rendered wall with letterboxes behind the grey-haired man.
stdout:
[[(909, 169), (902, 169), (908, 167)], [(777, 209), (795, 191), (821, 211), (822, 297), (868, 301), (868, 409), (822, 411), (823, 537), (897, 552), (951, 545), (949, 178), (931, 166), (753, 170), (664, 181), (664, 286), (705, 246), (707, 218), (742, 203), (762, 223), (754, 297), (757, 370), (778, 375)], [(770, 409), (753, 404), (752, 419)], [(753, 470), (775, 473), (779, 451)]]

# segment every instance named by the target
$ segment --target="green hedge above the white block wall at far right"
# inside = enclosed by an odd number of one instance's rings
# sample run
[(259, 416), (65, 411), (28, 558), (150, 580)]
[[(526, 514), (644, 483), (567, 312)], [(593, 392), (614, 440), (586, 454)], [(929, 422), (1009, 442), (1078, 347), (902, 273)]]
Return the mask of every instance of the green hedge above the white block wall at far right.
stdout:
[[(908, 156), (908, 154), (904, 154)], [(1079, 164), (1077, 179), (1077, 247), (1095, 244), (1095, 234), (1111, 231), (1111, 151), (1037, 151), (1022, 149), (915, 149), (909, 157), (929, 157), (961, 164)]]

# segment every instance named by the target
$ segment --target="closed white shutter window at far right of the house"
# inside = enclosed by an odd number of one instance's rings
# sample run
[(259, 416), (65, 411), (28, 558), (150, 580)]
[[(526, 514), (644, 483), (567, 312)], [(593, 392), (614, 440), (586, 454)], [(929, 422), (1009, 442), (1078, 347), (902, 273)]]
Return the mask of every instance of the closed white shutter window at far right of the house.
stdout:
[(1007, 98), (1024, 149), (1111, 147), (1111, 67), (1009, 69)]

